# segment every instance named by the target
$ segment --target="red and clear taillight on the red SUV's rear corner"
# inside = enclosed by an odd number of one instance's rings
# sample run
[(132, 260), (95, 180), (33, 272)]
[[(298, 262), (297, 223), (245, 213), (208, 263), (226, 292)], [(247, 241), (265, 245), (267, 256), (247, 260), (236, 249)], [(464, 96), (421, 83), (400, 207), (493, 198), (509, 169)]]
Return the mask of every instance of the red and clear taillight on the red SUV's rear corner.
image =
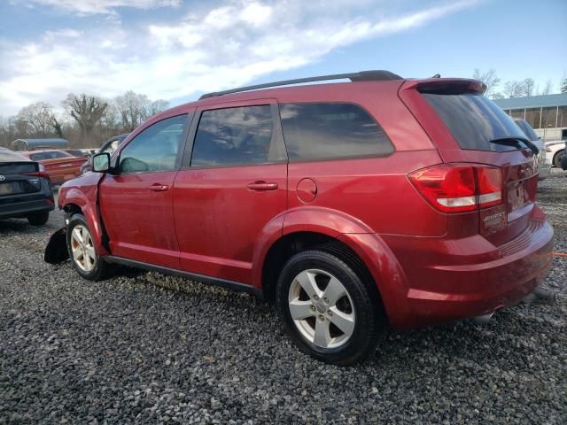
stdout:
[(496, 166), (440, 164), (414, 171), (408, 178), (433, 206), (447, 213), (502, 203), (502, 172)]

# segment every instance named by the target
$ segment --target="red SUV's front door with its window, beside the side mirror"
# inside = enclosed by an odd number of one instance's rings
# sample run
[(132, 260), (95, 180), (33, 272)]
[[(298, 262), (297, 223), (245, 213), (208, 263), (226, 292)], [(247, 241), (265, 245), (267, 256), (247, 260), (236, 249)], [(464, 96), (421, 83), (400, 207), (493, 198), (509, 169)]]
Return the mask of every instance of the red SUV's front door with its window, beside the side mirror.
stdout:
[(99, 185), (100, 210), (114, 256), (179, 269), (173, 186), (188, 116), (160, 120), (119, 152)]

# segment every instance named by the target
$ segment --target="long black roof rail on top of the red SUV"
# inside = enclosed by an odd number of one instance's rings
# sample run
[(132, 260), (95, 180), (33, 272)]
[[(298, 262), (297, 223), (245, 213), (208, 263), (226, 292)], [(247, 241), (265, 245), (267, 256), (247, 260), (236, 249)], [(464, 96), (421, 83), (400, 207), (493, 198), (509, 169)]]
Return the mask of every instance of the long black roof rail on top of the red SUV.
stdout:
[(316, 77), (298, 78), (296, 80), (274, 81), (274, 82), (267, 82), (265, 84), (256, 84), (254, 86), (239, 87), (237, 89), (215, 91), (213, 93), (206, 93), (205, 95), (199, 97), (199, 100), (207, 99), (209, 97), (229, 95), (231, 93), (239, 93), (241, 91), (268, 89), (270, 87), (289, 86), (291, 84), (301, 84), (301, 83), (304, 83), (304, 82), (346, 80), (346, 79), (348, 79), (350, 81), (403, 80), (403, 78), (401, 78), (400, 75), (397, 75), (395, 73), (391, 73), (390, 71), (384, 71), (384, 70), (359, 71), (358, 73), (337, 73), (337, 74), (334, 74), (334, 75), (320, 75), (320, 76), (316, 76)]

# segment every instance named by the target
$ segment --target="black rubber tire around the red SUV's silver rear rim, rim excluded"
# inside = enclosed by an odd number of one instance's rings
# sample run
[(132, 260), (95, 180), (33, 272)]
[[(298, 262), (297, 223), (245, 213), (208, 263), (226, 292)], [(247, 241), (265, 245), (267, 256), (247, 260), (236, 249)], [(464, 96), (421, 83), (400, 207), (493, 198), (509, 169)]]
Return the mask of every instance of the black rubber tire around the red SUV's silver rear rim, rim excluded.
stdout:
[[(324, 250), (324, 247), (321, 247), (321, 251), (303, 251), (293, 256), (285, 264), (278, 278), (276, 306), (285, 331), (302, 352), (326, 363), (346, 366), (364, 359), (370, 352), (374, 351), (378, 336), (384, 331), (386, 321), (382, 314), (383, 309), (377, 297), (377, 291), (372, 290), (370, 286), (374, 285), (374, 282), (369, 282), (368, 275), (361, 273), (357, 261), (349, 258), (349, 256), (334, 254), (336, 253), (330, 253)], [(346, 290), (350, 298), (348, 301), (352, 301), (353, 304), (355, 320), (352, 334), (344, 344), (337, 347), (323, 348), (314, 344), (307, 336), (302, 335), (291, 317), (288, 299), (291, 293), (291, 285), (301, 272), (313, 269), (321, 270), (336, 277)], [(359, 273), (356, 273), (355, 270), (358, 270)], [(313, 307), (311, 308), (313, 309)], [(317, 307), (318, 309), (319, 307)], [(319, 313), (320, 311), (316, 311), (315, 314), (318, 314), (316, 317), (322, 318), (322, 321), (324, 321), (325, 313)], [(332, 322), (332, 318), (329, 321)]]

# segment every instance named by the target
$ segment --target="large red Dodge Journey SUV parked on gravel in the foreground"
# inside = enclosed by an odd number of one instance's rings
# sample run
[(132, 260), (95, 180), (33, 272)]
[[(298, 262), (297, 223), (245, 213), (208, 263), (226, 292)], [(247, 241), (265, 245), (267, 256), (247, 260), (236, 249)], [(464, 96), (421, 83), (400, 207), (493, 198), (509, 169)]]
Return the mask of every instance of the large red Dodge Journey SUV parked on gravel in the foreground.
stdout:
[(302, 351), (342, 365), (386, 324), (515, 305), (548, 274), (553, 230), (532, 144), (484, 90), (370, 71), (162, 112), (61, 188), (73, 266), (252, 292)]

